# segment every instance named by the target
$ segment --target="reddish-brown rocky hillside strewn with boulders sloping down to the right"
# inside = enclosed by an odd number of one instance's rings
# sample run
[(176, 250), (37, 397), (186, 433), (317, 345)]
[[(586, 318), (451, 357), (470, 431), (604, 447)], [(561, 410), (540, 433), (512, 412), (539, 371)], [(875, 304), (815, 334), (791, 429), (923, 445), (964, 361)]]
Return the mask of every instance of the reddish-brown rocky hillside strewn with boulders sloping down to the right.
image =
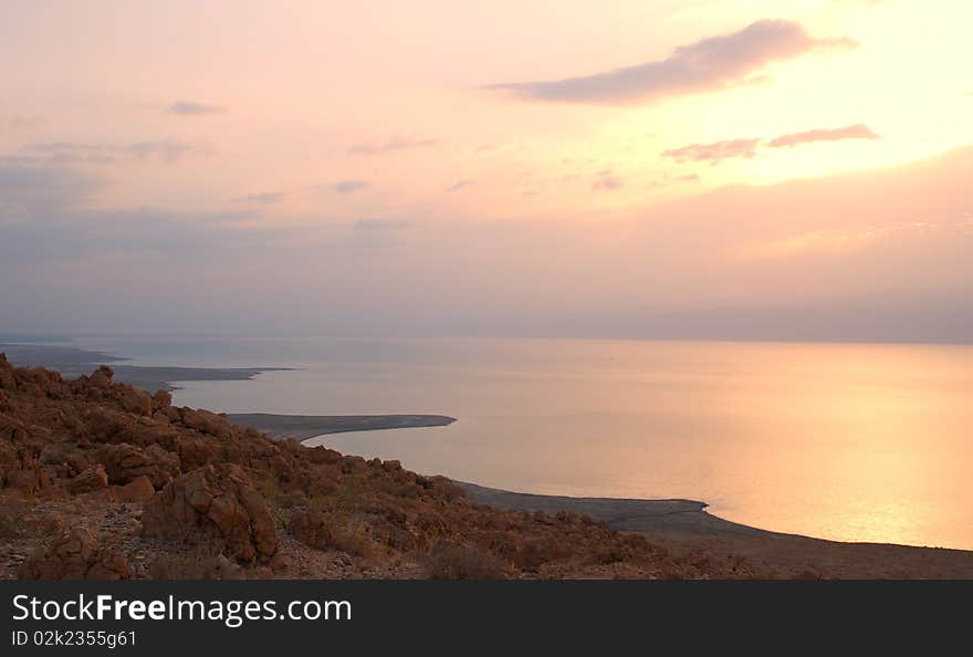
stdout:
[(112, 376), (0, 355), (0, 576), (767, 575), (584, 515), (475, 504), (442, 477), (275, 442)]

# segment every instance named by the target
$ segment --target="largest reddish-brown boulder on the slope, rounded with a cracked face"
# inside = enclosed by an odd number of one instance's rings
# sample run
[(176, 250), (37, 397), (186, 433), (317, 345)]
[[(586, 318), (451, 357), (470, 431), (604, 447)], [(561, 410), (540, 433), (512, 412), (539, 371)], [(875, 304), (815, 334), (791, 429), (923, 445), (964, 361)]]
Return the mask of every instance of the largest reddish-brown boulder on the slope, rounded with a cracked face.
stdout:
[(280, 542), (263, 498), (236, 465), (207, 465), (167, 483), (142, 514), (146, 536), (216, 543), (240, 563), (268, 561)]

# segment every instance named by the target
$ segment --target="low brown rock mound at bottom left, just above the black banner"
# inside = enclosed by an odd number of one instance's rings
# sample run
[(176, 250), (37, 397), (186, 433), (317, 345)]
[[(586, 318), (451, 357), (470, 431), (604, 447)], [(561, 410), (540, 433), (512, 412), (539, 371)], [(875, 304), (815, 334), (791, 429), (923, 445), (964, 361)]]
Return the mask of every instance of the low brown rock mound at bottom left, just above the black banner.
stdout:
[(127, 580), (128, 563), (115, 550), (100, 550), (90, 530), (72, 526), (52, 541), (46, 552), (21, 564), (21, 580)]

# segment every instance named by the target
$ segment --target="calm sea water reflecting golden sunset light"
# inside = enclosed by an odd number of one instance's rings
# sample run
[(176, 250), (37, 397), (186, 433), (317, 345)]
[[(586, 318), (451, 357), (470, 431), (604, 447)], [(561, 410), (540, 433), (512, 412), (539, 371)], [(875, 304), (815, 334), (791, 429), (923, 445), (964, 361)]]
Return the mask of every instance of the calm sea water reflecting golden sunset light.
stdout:
[(973, 549), (973, 347), (634, 341), (88, 341), (136, 363), (292, 365), (188, 383), (224, 411), (435, 413), (320, 439), (511, 490), (683, 497), (815, 536)]

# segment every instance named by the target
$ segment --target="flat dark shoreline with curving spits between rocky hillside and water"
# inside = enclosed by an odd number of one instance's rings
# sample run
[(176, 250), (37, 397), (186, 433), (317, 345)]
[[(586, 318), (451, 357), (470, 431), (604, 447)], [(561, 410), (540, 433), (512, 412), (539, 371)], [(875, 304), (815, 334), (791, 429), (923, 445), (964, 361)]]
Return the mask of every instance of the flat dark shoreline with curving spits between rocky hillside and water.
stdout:
[[(48, 366), (67, 377), (90, 374), (101, 363), (111, 364), (121, 374), (119, 379), (147, 389), (172, 389), (172, 380), (240, 380), (261, 372), (284, 369), (116, 365), (125, 358), (38, 344), (4, 343), (0, 344), (2, 351), (9, 352), (21, 365)], [(153, 388), (145, 382), (161, 385)], [(294, 416), (255, 413), (229, 414), (227, 418), (233, 424), (253, 427), (272, 439), (294, 437), (301, 440), (349, 431), (441, 427), (456, 421), (456, 418), (441, 415)], [(973, 551), (839, 542), (778, 533), (724, 520), (709, 513), (705, 502), (695, 500), (571, 498), (505, 491), (461, 481), (456, 483), (464, 490), (468, 499), (477, 503), (501, 510), (585, 514), (613, 530), (645, 535), (681, 556), (732, 560), (742, 555), (788, 572), (802, 572), (809, 578), (817, 574), (851, 578), (973, 578)]]

